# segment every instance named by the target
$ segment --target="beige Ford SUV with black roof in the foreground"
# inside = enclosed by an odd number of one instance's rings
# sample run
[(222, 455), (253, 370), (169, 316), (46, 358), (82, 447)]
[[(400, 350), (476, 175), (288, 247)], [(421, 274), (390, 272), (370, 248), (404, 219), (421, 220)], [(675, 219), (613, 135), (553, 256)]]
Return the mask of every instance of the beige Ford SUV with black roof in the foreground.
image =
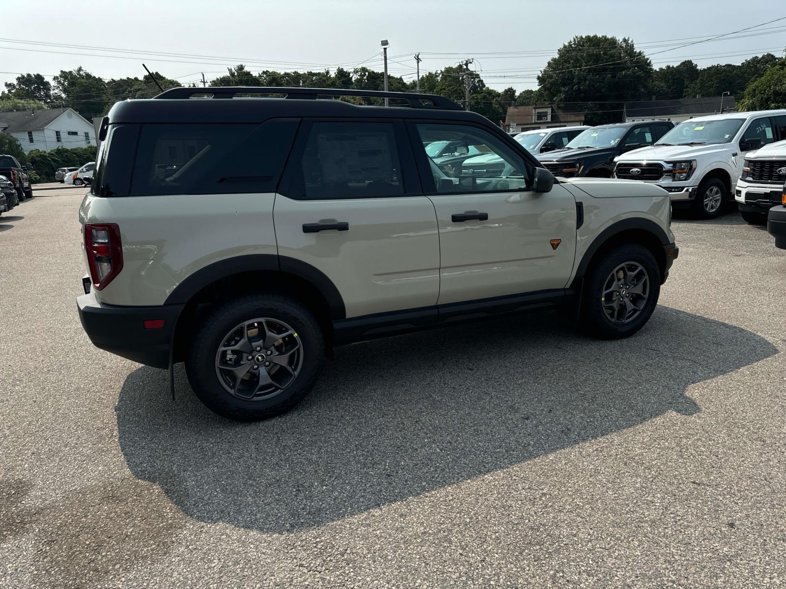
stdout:
[[(678, 255), (662, 188), (556, 181), (443, 97), (177, 88), (115, 104), (99, 137), (83, 327), (171, 386), (185, 361), (232, 419), (292, 408), (340, 344), (526, 309), (631, 335)], [(494, 152), (503, 175), (448, 174), (435, 141)]]

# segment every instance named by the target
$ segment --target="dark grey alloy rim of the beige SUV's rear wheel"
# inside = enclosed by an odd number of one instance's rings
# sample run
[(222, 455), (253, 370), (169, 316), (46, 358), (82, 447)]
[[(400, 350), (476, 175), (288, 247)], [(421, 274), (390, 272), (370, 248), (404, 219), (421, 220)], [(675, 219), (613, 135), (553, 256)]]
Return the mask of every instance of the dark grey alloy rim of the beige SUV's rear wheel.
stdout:
[(303, 344), (278, 319), (244, 321), (226, 334), (215, 354), (224, 389), (244, 401), (269, 399), (286, 390), (303, 367)]

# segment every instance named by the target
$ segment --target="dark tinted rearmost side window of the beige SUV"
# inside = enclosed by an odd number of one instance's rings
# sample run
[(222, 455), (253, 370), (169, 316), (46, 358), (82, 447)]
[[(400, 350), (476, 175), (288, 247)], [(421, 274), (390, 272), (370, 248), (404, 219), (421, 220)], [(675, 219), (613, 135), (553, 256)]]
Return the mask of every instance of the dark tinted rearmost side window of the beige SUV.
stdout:
[(130, 196), (275, 192), (298, 123), (143, 125)]

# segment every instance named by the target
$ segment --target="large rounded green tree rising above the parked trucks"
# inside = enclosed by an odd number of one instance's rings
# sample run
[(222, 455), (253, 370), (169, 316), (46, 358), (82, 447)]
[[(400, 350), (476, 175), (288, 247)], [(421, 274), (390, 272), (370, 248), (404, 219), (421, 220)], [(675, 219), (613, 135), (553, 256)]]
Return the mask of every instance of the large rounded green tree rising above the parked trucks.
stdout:
[(629, 38), (577, 36), (565, 43), (538, 75), (545, 102), (586, 112), (590, 125), (623, 119), (621, 101), (648, 98), (652, 63)]

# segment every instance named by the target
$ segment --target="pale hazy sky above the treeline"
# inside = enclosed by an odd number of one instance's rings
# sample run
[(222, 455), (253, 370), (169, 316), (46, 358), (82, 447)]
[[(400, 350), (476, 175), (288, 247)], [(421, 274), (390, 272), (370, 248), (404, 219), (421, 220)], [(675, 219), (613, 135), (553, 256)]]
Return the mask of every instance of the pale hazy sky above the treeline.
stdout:
[(51, 81), (80, 65), (105, 79), (141, 77), (142, 63), (184, 84), (241, 63), (251, 71), (381, 70), (387, 39), (391, 75), (414, 79), (420, 53), (421, 74), (473, 59), (488, 86), (524, 90), (537, 87), (538, 71), (575, 35), (630, 37), (659, 52), (656, 68), (685, 59), (739, 64), (780, 57), (786, 46), (780, 20), (679, 48), (786, 16), (786, 3), (773, 0), (36, 0), (8, 2), (3, 14), (14, 27), (0, 32), (0, 82), (21, 72)]

